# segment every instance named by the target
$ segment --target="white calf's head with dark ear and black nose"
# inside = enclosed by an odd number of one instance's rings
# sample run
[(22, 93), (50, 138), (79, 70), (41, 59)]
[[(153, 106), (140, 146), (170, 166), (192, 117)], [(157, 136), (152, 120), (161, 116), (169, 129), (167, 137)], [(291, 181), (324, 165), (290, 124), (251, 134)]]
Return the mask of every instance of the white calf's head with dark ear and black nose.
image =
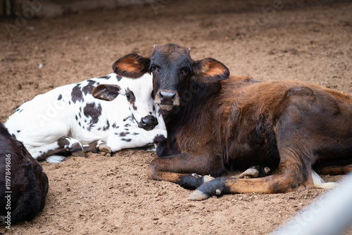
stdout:
[[(115, 74), (114, 74), (115, 75)], [(141, 77), (119, 77), (116, 75), (116, 83), (99, 84), (92, 91), (96, 99), (113, 101), (118, 95), (125, 96), (134, 120), (138, 127), (151, 130), (158, 125), (156, 118), (156, 105), (152, 98), (153, 75), (149, 72)]]

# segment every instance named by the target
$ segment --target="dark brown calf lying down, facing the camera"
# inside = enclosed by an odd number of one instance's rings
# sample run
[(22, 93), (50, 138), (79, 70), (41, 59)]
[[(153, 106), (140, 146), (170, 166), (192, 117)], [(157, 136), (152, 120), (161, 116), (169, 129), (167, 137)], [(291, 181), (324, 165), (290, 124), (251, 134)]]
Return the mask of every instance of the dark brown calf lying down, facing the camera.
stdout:
[[(320, 179), (313, 167), (330, 174), (352, 169), (341, 167), (352, 163), (351, 96), (230, 76), (219, 61), (193, 61), (189, 49), (176, 44), (154, 46), (150, 58), (131, 55), (120, 63), (121, 76), (153, 72), (155, 102), (163, 109), (168, 139), (158, 145), (148, 177), (198, 187), (190, 199), (310, 189)], [(218, 177), (225, 167), (252, 165), (268, 166), (273, 174)]]

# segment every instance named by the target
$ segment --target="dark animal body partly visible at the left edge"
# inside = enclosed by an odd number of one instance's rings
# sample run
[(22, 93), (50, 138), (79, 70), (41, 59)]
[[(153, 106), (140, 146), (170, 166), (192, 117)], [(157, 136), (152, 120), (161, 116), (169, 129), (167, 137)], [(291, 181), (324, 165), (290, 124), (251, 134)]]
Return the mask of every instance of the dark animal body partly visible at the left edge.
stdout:
[(48, 178), (42, 165), (0, 122), (1, 224), (9, 226), (32, 220), (44, 208), (48, 189)]

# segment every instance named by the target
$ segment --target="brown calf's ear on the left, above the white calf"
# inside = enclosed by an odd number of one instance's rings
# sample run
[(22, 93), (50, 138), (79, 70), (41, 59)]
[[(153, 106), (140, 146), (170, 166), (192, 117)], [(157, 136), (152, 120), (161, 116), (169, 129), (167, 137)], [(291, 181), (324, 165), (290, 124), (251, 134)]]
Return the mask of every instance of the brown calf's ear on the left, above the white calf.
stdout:
[(130, 53), (113, 63), (113, 72), (121, 77), (138, 78), (149, 72), (149, 58)]

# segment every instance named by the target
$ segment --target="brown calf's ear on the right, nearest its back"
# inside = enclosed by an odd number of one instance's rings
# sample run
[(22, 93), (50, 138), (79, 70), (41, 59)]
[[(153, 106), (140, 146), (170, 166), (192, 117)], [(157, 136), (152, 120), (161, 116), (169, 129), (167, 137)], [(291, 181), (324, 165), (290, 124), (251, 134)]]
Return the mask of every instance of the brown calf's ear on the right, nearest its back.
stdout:
[(230, 76), (230, 70), (214, 58), (203, 58), (203, 60), (195, 61), (192, 70), (196, 79), (205, 83), (218, 82)]

